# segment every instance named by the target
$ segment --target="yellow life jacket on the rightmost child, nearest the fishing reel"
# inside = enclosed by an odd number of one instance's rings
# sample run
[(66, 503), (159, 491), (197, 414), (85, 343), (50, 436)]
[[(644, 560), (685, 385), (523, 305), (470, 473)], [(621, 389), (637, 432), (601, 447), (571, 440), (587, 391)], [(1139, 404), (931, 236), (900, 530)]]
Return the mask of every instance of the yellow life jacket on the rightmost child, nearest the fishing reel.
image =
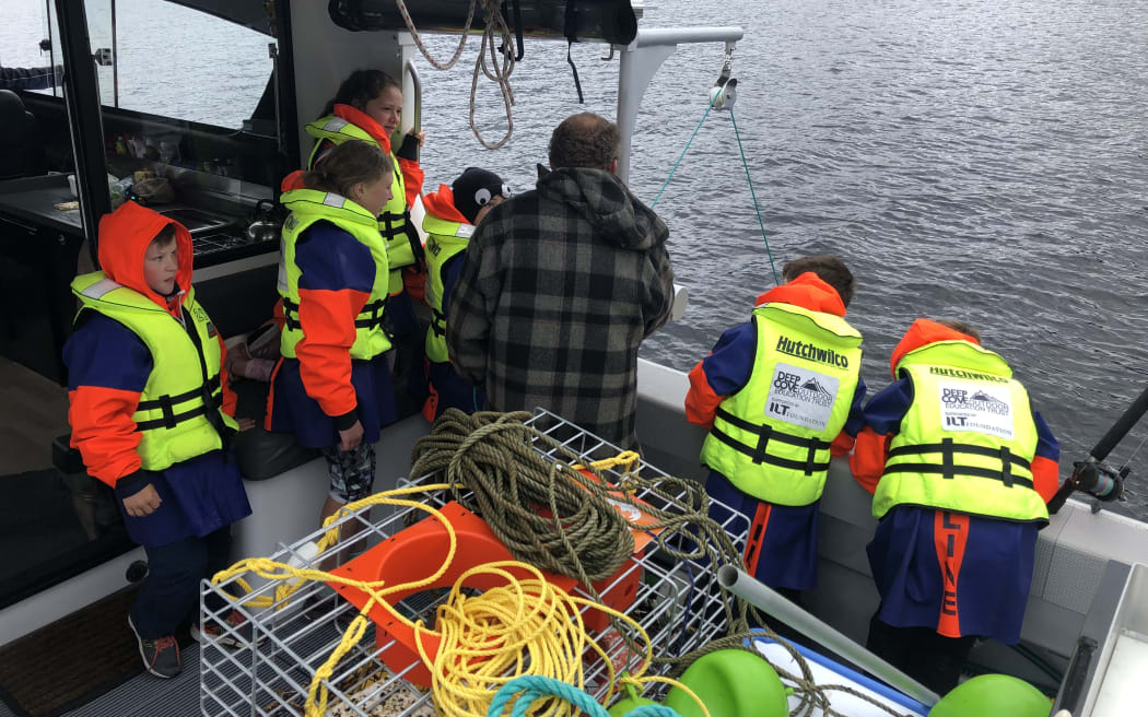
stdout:
[(996, 353), (968, 341), (910, 351), (897, 365), (913, 404), (890, 442), (872, 514), (898, 505), (1047, 521), (1032, 484), (1037, 424), (1029, 393)]

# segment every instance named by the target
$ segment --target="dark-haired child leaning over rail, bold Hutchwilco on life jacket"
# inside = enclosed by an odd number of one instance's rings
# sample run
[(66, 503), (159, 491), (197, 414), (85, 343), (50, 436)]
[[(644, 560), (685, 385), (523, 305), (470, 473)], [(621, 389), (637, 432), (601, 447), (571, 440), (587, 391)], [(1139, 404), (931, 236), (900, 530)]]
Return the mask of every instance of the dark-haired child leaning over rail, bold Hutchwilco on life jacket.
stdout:
[(782, 275), (786, 283), (758, 297), (753, 320), (724, 332), (690, 372), (685, 415), (711, 431), (701, 453), (711, 469), (706, 492), (751, 524), (730, 523), (718, 505), (712, 517), (746, 531), (750, 574), (798, 600), (817, 582), (829, 455), (852, 447), (866, 385), (861, 336), (844, 321), (855, 288), (848, 267), (812, 256), (790, 262)]

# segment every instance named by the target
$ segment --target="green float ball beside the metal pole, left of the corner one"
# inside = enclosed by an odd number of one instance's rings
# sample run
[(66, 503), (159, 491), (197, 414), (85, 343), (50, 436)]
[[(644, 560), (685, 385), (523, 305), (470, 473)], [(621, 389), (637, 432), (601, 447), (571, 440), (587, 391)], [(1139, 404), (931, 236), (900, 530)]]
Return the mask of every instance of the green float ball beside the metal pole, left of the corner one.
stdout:
[[(788, 717), (785, 686), (765, 657), (744, 649), (720, 649), (698, 657), (680, 680), (692, 689), (711, 717)], [(670, 688), (662, 704), (682, 717), (703, 717), (684, 689)]]

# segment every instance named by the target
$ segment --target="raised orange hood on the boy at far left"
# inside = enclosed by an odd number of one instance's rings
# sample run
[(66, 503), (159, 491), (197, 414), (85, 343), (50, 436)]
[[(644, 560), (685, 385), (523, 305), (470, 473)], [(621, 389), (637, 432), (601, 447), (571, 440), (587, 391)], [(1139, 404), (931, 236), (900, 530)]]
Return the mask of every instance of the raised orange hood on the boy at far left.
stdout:
[[(176, 294), (170, 301), (144, 280), (147, 247), (169, 224), (176, 227), (176, 256), (179, 257)], [(179, 318), (179, 305), (192, 286), (192, 234), (187, 227), (135, 202), (124, 202), (100, 219), (99, 241), (100, 268), (108, 279), (139, 291)]]

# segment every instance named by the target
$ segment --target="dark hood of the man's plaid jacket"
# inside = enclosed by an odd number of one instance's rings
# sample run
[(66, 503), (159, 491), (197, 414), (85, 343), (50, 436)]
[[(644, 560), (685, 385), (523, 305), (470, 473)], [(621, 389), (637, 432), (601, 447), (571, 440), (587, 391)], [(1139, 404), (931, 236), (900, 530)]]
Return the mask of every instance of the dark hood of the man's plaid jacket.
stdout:
[(575, 208), (597, 234), (623, 249), (644, 251), (669, 236), (666, 223), (611, 172), (561, 167), (538, 179), (537, 188), (540, 196)]

